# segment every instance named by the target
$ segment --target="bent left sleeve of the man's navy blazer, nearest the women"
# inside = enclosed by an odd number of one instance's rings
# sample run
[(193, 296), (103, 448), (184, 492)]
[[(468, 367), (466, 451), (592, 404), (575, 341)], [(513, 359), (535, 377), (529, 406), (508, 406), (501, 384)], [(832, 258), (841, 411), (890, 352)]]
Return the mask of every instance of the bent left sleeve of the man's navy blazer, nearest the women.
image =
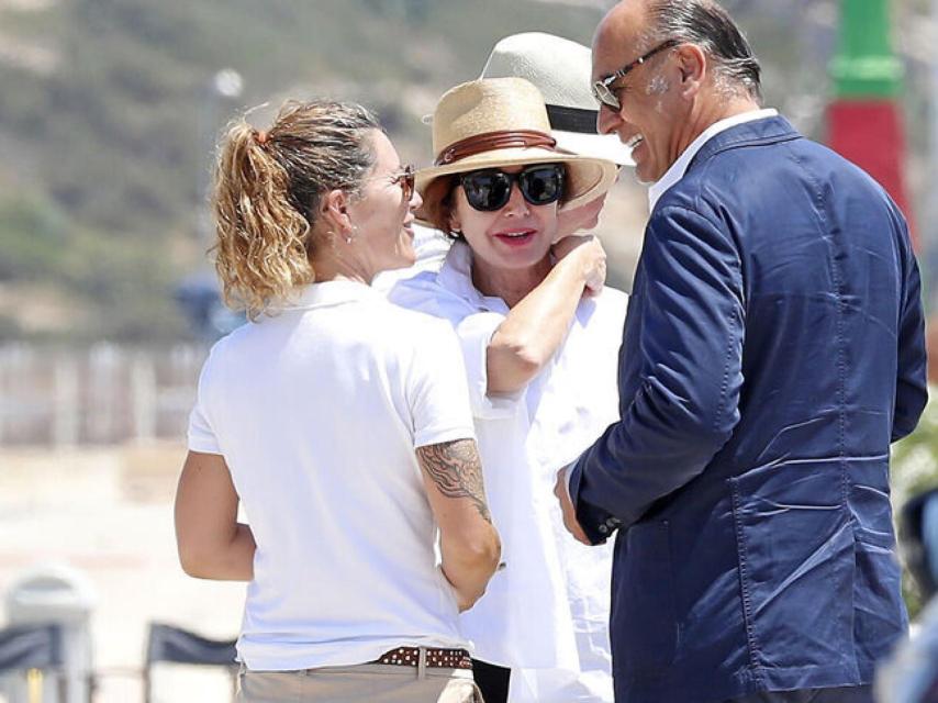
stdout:
[(638, 355), (621, 364), (638, 373), (637, 391), (569, 477), (594, 543), (703, 471), (739, 421), (745, 308), (734, 241), (700, 213), (666, 207), (641, 258), (621, 352)]

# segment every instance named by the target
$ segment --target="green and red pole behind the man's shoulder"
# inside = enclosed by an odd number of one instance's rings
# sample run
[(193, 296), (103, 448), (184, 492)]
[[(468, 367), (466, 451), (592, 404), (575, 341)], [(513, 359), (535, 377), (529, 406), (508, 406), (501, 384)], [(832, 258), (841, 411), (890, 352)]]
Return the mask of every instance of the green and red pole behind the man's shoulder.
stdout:
[(912, 230), (898, 105), (904, 68), (893, 52), (890, 27), (889, 0), (840, 0), (837, 55), (830, 65), (835, 99), (827, 109), (828, 143), (885, 188)]

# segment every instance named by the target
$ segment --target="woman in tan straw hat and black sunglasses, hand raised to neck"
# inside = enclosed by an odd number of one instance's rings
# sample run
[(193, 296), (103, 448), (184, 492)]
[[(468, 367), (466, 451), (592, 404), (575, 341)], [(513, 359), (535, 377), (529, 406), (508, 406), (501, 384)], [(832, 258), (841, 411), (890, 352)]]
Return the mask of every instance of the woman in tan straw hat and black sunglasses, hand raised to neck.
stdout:
[(612, 701), (611, 551), (566, 535), (551, 490), (557, 467), (617, 417), (626, 297), (603, 289), (593, 237), (557, 241), (560, 212), (600, 198), (616, 167), (558, 150), (544, 99), (520, 78), (447, 92), (433, 143), (418, 216), (457, 241), (438, 274), (391, 300), (448, 320), (462, 343), (505, 562), (461, 618), (477, 681), (490, 703), (506, 691), (488, 665), (511, 670), (511, 701)]

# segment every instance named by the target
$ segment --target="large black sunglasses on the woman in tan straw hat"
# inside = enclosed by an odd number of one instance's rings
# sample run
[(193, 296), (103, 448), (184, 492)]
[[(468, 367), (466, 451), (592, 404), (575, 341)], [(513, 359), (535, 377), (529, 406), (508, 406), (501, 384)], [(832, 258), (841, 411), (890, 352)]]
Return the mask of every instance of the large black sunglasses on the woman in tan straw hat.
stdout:
[(566, 177), (567, 169), (561, 164), (537, 164), (517, 174), (506, 174), (498, 168), (470, 171), (459, 177), (459, 183), (474, 210), (492, 212), (505, 207), (515, 181), (521, 194), (532, 205), (557, 202), (563, 197)]

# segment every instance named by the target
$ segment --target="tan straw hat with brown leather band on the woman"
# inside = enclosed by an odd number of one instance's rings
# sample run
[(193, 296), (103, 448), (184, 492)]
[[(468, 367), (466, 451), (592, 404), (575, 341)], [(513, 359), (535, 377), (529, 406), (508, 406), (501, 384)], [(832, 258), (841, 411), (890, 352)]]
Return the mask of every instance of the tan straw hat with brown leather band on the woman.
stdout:
[(560, 152), (550, 135), (544, 98), (522, 78), (492, 78), (461, 83), (447, 91), (433, 114), (433, 166), (416, 172), (424, 198), (417, 212), (431, 212), (427, 187), (442, 176), (483, 168), (529, 164), (563, 164), (567, 180), (563, 209), (584, 204), (615, 182), (610, 160)]

